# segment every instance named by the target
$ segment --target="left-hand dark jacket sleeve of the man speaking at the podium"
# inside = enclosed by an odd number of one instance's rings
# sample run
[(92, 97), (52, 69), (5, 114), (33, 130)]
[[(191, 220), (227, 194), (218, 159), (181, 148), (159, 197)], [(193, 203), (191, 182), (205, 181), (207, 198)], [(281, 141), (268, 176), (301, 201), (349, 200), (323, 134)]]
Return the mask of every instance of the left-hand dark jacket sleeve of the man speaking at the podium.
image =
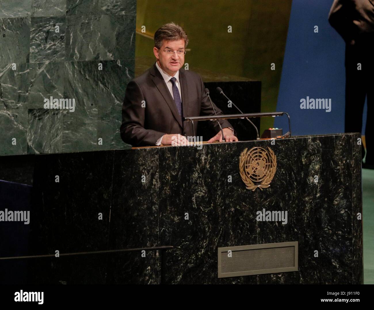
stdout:
[(156, 145), (157, 140), (165, 133), (144, 128), (145, 107), (142, 107), (143, 100), (144, 95), (140, 85), (132, 80), (127, 85), (122, 105), (121, 138), (123, 142), (135, 146)]

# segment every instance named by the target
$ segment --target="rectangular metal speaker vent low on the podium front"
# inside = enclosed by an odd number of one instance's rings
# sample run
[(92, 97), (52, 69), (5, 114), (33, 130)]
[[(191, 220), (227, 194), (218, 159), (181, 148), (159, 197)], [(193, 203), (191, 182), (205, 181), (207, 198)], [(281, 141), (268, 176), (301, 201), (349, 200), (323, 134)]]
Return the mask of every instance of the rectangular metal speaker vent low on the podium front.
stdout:
[(218, 248), (219, 278), (297, 270), (298, 241)]

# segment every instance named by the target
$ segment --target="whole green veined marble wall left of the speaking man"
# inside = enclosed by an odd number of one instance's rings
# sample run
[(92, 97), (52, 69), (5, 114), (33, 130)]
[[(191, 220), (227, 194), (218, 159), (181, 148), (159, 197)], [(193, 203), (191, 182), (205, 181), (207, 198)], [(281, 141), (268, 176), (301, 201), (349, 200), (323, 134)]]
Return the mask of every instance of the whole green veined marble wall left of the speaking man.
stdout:
[[(0, 0), (0, 155), (130, 148), (135, 20), (136, 0)], [(50, 97), (74, 112), (45, 109)]]

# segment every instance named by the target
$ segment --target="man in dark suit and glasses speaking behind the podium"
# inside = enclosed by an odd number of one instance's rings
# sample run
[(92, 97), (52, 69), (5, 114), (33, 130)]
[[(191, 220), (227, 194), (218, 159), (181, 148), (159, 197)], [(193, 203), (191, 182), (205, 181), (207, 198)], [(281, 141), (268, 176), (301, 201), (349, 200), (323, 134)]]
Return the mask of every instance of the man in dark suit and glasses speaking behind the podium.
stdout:
[[(120, 133), (125, 143), (134, 146), (185, 145), (186, 136), (196, 133), (191, 122), (182, 117), (214, 115), (201, 77), (184, 64), (188, 37), (174, 23), (163, 25), (154, 34), (156, 63), (128, 83), (122, 106)], [(217, 115), (222, 111), (214, 105)], [(223, 141), (217, 121), (209, 121), (217, 134), (208, 142)], [(230, 123), (220, 121), (226, 141), (237, 141)], [(194, 129), (194, 130), (193, 130)]]

